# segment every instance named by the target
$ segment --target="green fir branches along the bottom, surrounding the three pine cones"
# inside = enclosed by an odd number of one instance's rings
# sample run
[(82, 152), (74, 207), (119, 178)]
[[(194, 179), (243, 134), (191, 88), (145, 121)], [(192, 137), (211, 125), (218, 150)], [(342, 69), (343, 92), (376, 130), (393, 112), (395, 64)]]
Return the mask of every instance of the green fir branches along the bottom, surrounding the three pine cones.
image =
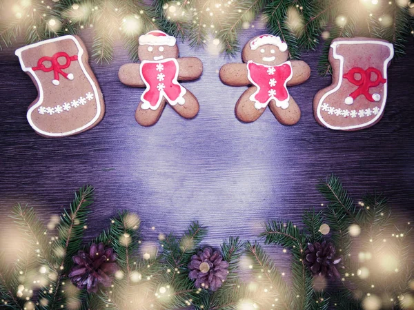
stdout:
[[(230, 237), (220, 245), (228, 262), (228, 276), (217, 291), (197, 289), (190, 280), (188, 264), (203, 249), (208, 229), (197, 221), (182, 236), (160, 234), (159, 245), (143, 240), (140, 220), (120, 212), (95, 239), (83, 242), (83, 231), (92, 203), (92, 187), (82, 187), (68, 209), (63, 210), (57, 235), (48, 231), (30, 207), (17, 205), (12, 218), (23, 232), (28, 247), (12, 267), (3, 264), (0, 252), (0, 300), (2, 309), (183, 309), (239, 310), (363, 309), (366, 296), (389, 296), (389, 306), (404, 309), (413, 280), (410, 227), (396, 227), (396, 220), (381, 194), (367, 195), (358, 203), (331, 176), (319, 183), (319, 192), (328, 201), (321, 210), (304, 211), (303, 226), (291, 221), (268, 220), (260, 238), (268, 246), (279, 245), (291, 254), (290, 280), (276, 267), (259, 242)], [(330, 232), (322, 230), (328, 224)], [(351, 234), (350, 227), (357, 227)], [(358, 230), (357, 229), (357, 230)], [(391, 237), (392, 236), (392, 237)], [(358, 238), (358, 253), (353, 249)], [(310, 243), (331, 241), (344, 261), (340, 286), (315, 287), (315, 278), (305, 265)], [(78, 290), (68, 273), (72, 257), (102, 242), (117, 254), (119, 271), (108, 288), (97, 293)], [(79, 254), (78, 254), (79, 255)], [(382, 262), (386, 260), (386, 265)], [(366, 273), (366, 269), (371, 272)], [(246, 273), (248, 273), (246, 275)], [(253, 280), (246, 281), (246, 276)], [(33, 285), (39, 280), (39, 285)], [(322, 281), (323, 283), (323, 281)], [(30, 291), (28, 289), (32, 288)], [(34, 298), (36, 296), (36, 298)]]

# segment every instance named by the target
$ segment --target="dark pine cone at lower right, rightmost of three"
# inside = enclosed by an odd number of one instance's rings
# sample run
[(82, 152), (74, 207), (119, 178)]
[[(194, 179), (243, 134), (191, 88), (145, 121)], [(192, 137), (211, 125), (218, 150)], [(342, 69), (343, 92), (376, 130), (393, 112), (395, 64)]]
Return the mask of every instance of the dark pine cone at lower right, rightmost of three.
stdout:
[(305, 251), (305, 264), (314, 276), (341, 278), (338, 268), (343, 268), (339, 256), (335, 256), (335, 247), (331, 242), (308, 243)]

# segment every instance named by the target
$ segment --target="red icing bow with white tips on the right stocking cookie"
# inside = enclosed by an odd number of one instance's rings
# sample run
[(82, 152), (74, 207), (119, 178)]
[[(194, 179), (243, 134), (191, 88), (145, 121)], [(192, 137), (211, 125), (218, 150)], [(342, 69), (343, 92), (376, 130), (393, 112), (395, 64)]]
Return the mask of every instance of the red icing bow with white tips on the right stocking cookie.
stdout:
[[(375, 74), (377, 78), (375, 81), (371, 81), (371, 74)], [(358, 80), (355, 78), (355, 74), (359, 74), (361, 78)], [(370, 94), (369, 89), (371, 87), (377, 87), (380, 84), (386, 83), (386, 79), (382, 76), (380, 70), (375, 68), (368, 68), (364, 70), (362, 68), (352, 68), (348, 73), (344, 74), (344, 79), (347, 79), (358, 88), (355, 92), (352, 92), (346, 99), (345, 103), (351, 105), (357, 97), (364, 95), (368, 101), (375, 102), (380, 101), (380, 94)]]

